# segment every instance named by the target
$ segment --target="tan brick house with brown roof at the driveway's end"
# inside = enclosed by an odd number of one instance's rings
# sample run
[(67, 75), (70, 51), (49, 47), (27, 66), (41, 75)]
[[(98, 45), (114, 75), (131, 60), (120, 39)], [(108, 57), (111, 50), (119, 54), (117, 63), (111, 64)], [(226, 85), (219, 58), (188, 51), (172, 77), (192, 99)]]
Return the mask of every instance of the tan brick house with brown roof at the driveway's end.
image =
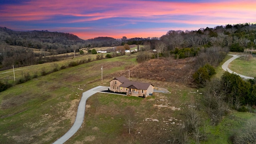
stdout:
[(154, 86), (149, 83), (132, 82), (126, 77), (116, 77), (110, 81), (110, 90), (113, 92), (124, 92), (131, 96), (147, 97), (154, 92)]

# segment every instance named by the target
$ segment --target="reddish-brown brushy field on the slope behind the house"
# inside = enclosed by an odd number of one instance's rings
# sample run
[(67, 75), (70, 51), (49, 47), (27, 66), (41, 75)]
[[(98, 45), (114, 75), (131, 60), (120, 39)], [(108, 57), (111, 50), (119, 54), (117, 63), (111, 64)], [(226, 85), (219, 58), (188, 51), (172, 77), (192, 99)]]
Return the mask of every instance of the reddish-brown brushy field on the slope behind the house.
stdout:
[(113, 73), (111, 76), (128, 77), (128, 69), (130, 70), (130, 77), (133, 78), (162, 82), (178, 82), (187, 86), (193, 86), (192, 75), (196, 71), (196, 66), (195, 58), (179, 60), (173, 58), (150, 59), (136, 66), (127, 66), (126, 70)]

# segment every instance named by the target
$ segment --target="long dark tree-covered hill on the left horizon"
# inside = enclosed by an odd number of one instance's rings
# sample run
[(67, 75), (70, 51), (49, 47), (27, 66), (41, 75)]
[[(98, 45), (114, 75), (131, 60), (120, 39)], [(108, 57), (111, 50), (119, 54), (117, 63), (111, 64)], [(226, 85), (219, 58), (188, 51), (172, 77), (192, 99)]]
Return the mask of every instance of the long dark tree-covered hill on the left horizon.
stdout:
[(0, 43), (13, 46), (23, 46), (47, 50), (58, 48), (70, 48), (85, 40), (78, 36), (63, 32), (48, 32), (48, 30), (14, 31), (6, 27), (0, 27)]

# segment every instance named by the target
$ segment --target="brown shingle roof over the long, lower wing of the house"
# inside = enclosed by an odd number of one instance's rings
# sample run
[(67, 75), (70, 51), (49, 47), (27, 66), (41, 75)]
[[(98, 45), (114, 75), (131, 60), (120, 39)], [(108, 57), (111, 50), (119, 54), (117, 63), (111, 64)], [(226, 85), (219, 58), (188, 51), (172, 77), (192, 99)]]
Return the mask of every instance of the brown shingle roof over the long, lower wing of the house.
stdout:
[[(152, 85), (152, 84), (151, 84)], [(150, 86), (149, 83), (143, 83), (143, 82), (131, 82), (131, 81), (125, 81), (120, 85), (121, 87), (124, 88), (133, 88), (133, 89), (138, 89), (138, 90), (147, 90), (148, 87)], [(153, 85), (152, 85), (153, 86)]]

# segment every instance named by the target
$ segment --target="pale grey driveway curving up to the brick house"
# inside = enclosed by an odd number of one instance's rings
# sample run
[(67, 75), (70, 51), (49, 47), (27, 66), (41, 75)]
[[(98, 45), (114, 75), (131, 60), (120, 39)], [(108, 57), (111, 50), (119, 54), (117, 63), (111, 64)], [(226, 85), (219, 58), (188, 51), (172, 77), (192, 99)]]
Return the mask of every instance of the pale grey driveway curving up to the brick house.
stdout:
[(108, 88), (108, 86), (97, 86), (83, 93), (78, 105), (76, 120), (73, 126), (70, 128), (70, 130), (68, 130), (68, 132), (66, 132), (66, 134), (64, 134), (61, 138), (56, 140), (53, 144), (63, 144), (78, 131), (78, 129), (82, 126), (82, 123), (84, 121), (84, 112), (87, 98), (96, 94), (97, 92), (101, 92), (102, 90), (108, 90)]

